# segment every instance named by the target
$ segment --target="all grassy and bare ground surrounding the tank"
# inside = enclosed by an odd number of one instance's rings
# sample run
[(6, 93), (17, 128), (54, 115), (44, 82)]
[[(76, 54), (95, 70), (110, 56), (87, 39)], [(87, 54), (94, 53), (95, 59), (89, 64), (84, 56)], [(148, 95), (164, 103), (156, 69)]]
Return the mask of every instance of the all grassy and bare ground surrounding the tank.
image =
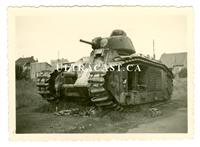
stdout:
[[(94, 115), (84, 117), (54, 115), (55, 107), (43, 100), (37, 93), (35, 82), (16, 81), (16, 132), (126, 133), (129, 129), (137, 128), (139, 130), (136, 130), (136, 132), (140, 133), (155, 132), (155, 130), (166, 133), (185, 133), (187, 132), (187, 79), (175, 78), (173, 83), (174, 91), (171, 101), (157, 107), (162, 112), (159, 117), (146, 116), (142, 111), (120, 113), (100, 109)], [(59, 110), (71, 108), (79, 108), (86, 112), (91, 106), (81, 106), (73, 102), (58, 106)], [(181, 111), (179, 111), (179, 108), (181, 108)], [(173, 124), (173, 119), (174, 126), (168, 123), (170, 121)], [(155, 125), (155, 123), (157, 124)], [(140, 129), (141, 124), (143, 127)], [(145, 124), (148, 124), (147, 129), (144, 129)], [(154, 124), (156, 128), (152, 127), (151, 129), (151, 124)], [(162, 124), (166, 126), (162, 126)]]

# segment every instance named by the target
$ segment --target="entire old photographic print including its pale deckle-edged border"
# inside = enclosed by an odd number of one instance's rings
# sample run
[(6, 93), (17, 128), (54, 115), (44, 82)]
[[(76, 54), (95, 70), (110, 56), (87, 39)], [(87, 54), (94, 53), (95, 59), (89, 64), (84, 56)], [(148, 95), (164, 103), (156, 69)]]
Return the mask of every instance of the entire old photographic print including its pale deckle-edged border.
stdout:
[(193, 9), (8, 8), (11, 140), (193, 136)]

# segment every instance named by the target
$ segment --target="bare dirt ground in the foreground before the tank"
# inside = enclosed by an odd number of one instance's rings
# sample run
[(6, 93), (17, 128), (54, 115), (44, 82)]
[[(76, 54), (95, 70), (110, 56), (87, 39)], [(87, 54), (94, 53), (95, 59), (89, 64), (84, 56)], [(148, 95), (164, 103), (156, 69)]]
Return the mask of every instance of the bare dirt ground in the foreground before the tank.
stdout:
[(157, 117), (144, 112), (128, 114), (124, 120), (107, 117), (57, 116), (34, 112), (33, 107), (16, 111), (16, 133), (187, 133), (187, 100), (172, 99), (156, 107)]

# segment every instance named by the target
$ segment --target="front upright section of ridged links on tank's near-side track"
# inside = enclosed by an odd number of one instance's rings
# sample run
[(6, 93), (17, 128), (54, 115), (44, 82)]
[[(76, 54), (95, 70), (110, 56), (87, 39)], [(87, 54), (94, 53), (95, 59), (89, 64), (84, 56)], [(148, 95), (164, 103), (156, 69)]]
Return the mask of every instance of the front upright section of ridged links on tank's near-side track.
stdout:
[(95, 103), (96, 106), (102, 107), (103, 109), (114, 109), (118, 111), (123, 111), (123, 108), (116, 103), (114, 98), (108, 94), (105, 85), (105, 71), (92, 71), (88, 82), (90, 83), (89, 94), (91, 101)]

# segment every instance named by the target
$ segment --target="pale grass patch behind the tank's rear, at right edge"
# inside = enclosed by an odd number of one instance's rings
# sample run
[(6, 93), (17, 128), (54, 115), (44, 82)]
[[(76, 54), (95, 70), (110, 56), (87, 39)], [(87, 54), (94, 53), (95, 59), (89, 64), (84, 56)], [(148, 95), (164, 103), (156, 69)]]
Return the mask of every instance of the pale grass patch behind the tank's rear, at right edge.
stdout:
[(172, 98), (187, 98), (187, 78), (176, 77), (173, 85)]

